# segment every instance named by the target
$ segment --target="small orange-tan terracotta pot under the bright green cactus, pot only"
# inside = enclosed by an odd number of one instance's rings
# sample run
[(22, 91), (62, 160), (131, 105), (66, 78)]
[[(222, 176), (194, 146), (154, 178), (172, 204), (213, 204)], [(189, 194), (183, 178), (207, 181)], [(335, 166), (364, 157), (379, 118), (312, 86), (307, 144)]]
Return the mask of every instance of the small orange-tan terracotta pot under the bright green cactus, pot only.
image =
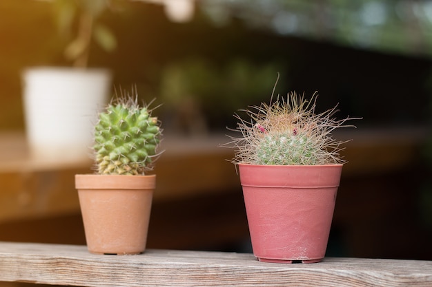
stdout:
[(155, 182), (154, 175), (75, 176), (90, 253), (145, 251)]

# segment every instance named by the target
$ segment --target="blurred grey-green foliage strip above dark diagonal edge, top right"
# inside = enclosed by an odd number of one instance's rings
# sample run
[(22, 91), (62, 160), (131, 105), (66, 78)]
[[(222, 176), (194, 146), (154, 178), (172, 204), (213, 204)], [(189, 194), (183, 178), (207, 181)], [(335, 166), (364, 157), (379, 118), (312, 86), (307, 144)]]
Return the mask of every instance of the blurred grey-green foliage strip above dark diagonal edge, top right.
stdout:
[(217, 25), (242, 19), (284, 36), (432, 56), (430, 0), (202, 0)]

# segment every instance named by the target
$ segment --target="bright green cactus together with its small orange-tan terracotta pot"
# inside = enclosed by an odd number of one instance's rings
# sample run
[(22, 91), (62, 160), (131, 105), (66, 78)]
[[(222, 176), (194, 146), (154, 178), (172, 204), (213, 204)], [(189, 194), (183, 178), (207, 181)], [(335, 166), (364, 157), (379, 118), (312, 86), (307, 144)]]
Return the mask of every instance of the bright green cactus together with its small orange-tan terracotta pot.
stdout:
[(95, 174), (75, 175), (90, 253), (137, 254), (146, 248), (160, 155), (161, 128), (137, 97), (115, 98), (99, 113), (93, 145)]

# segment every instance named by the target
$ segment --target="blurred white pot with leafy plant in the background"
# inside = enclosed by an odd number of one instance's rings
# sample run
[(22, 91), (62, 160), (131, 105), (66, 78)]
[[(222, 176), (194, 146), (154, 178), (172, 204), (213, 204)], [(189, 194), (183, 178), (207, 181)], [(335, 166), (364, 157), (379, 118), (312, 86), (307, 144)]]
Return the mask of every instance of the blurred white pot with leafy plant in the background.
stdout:
[[(23, 111), (30, 156), (37, 160), (76, 162), (88, 159), (92, 121), (108, 102), (112, 71), (89, 67), (93, 41), (106, 52), (117, 47), (101, 21), (112, 10), (108, 0), (53, 0), (59, 40), (71, 39), (64, 56), (73, 67), (27, 67), (22, 72)], [(55, 118), (55, 120), (52, 120)]]

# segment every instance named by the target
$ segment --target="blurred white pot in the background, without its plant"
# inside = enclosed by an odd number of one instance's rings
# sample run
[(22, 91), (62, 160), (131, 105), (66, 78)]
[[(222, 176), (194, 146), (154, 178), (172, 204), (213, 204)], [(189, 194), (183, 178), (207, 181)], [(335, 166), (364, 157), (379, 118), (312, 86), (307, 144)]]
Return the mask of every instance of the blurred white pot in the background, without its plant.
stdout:
[(32, 158), (88, 160), (92, 127), (110, 93), (104, 69), (37, 67), (23, 73), (26, 136)]

